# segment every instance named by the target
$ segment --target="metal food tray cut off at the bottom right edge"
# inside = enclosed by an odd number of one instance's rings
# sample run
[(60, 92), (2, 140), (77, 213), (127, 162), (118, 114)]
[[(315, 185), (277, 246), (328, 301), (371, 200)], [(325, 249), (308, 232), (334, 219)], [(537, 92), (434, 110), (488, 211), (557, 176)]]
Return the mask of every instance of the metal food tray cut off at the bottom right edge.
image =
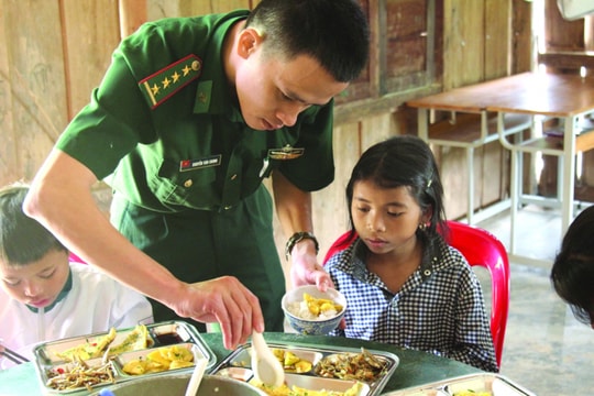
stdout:
[(460, 392), (491, 393), (493, 396), (536, 396), (499, 374), (471, 374), (419, 387), (395, 391), (384, 396), (455, 396)]

